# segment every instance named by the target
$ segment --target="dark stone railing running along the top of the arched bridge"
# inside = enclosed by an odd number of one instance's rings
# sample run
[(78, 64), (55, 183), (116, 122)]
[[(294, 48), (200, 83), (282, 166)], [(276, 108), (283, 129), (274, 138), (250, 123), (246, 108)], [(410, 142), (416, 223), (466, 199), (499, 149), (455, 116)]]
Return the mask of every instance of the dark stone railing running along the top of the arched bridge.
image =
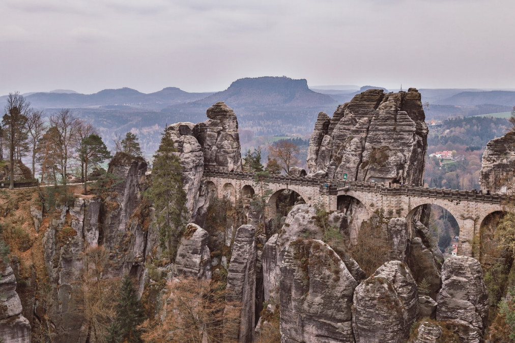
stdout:
[[(243, 171), (215, 170), (210, 168), (204, 169), (204, 176), (247, 180), (252, 180), (254, 178), (253, 173)], [(505, 204), (508, 202), (515, 203), (515, 195), (509, 196), (506, 194), (482, 193), (477, 191), (466, 191), (446, 188), (427, 188), (414, 186), (387, 187), (385, 184), (375, 182), (359, 182), (289, 175), (270, 175), (269, 182), (317, 186), (320, 188), (320, 191), (329, 191), (330, 194), (336, 194), (340, 191), (347, 191), (352, 189), (372, 191), (376, 193), (386, 193), (392, 195), (405, 194), (438, 197), (456, 201), (465, 200), (494, 204)]]

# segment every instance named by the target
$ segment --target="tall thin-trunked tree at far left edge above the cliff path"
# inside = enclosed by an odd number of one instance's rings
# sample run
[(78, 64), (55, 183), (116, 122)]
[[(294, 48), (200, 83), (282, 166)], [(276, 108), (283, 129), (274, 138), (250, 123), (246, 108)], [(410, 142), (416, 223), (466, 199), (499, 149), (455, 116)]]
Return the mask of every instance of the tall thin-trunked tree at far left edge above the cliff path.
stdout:
[(2, 118), (4, 127), (7, 127), (8, 149), (9, 149), (9, 189), (14, 189), (14, 155), (21, 136), (26, 130), (27, 115), (29, 113), (30, 102), (28, 102), (19, 92), (9, 93), (5, 114)]

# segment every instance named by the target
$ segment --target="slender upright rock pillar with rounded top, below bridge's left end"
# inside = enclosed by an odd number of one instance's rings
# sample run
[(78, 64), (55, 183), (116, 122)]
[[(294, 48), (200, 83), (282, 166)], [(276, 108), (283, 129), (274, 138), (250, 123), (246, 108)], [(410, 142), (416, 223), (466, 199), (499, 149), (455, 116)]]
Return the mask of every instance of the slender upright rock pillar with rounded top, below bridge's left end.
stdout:
[(242, 225), (236, 230), (227, 274), (226, 311), (241, 306), (239, 330), (224, 336), (226, 340), (252, 341), (255, 323), (256, 259), (255, 227)]

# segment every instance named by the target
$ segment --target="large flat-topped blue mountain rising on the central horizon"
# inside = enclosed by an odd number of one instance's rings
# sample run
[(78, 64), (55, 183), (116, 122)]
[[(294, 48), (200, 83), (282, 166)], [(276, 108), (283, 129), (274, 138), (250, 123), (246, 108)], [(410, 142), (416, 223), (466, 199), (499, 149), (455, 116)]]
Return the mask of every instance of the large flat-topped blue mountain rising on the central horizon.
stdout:
[(196, 122), (205, 120), (205, 111), (218, 101), (234, 110), (240, 129), (256, 135), (309, 134), (318, 112), (333, 113), (338, 104), (328, 95), (313, 92), (304, 79), (260, 77), (236, 80), (223, 92), (169, 106), (163, 112)]

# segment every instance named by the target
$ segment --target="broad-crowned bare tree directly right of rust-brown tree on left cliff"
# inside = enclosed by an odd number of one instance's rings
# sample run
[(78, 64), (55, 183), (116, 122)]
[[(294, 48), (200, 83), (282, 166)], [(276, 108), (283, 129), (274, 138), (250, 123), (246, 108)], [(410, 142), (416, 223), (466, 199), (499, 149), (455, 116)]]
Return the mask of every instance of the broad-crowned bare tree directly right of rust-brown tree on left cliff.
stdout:
[(69, 109), (63, 109), (55, 116), (50, 117), (50, 125), (57, 130), (56, 138), (60, 149), (62, 183), (66, 185), (68, 164), (78, 145), (79, 120), (73, 116)]

